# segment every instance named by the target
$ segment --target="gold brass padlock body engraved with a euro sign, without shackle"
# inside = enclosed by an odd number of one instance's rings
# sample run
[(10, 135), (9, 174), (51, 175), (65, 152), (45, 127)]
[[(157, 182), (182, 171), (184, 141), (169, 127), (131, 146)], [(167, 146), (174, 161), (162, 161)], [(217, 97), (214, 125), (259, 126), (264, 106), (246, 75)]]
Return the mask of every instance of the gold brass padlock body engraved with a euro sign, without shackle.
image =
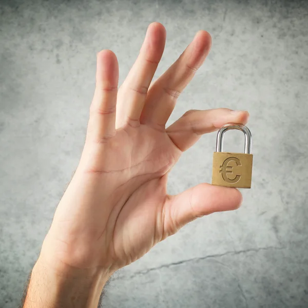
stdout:
[(251, 188), (253, 155), (214, 152), (212, 185)]

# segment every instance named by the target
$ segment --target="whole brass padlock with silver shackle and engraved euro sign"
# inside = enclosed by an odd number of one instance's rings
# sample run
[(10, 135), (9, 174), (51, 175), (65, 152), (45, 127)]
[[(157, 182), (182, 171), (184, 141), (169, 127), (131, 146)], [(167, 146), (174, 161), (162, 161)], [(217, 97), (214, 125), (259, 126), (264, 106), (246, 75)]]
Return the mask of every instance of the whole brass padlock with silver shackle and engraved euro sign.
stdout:
[[(224, 133), (230, 129), (239, 129), (245, 135), (244, 153), (223, 152)], [(251, 188), (253, 155), (252, 134), (248, 127), (242, 124), (226, 124), (217, 133), (216, 152), (213, 156), (212, 185)]]

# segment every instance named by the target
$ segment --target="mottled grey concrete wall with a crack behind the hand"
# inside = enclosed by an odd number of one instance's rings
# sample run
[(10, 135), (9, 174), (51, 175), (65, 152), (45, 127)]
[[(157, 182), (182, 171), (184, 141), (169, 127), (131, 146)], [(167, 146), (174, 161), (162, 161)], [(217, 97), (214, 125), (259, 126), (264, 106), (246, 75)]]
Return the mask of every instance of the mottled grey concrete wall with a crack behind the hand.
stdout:
[[(212, 35), (170, 123), (248, 110), (253, 186), (237, 211), (191, 222), (115, 274), (105, 306), (308, 307), (308, 2), (274, 0), (0, 1), (0, 307), (18, 305), (78, 164), (96, 53), (117, 54), (122, 82), (153, 21), (167, 29), (155, 78), (197, 30)], [(210, 182), (215, 138), (185, 152), (170, 194)]]

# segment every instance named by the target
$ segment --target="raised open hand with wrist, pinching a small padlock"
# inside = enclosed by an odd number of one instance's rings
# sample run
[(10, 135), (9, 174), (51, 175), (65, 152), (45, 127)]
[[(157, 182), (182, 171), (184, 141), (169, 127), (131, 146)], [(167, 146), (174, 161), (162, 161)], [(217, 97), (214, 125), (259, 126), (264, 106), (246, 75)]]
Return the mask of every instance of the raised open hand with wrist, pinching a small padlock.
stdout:
[(182, 152), (226, 123), (245, 124), (248, 112), (189, 110), (166, 128), (211, 37), (197, 32), (151, 84), (165, 40), (163, 25), (152, 23), (119, 90), (117, 57), (110, 50), (98, 53), (82, 157), (34, 265), (24, 307), (97, 307), (104, 284), (119, 268), (188, 222), (240, 206), (237, 189), (206, 183), (167, 195), (168, 173)]

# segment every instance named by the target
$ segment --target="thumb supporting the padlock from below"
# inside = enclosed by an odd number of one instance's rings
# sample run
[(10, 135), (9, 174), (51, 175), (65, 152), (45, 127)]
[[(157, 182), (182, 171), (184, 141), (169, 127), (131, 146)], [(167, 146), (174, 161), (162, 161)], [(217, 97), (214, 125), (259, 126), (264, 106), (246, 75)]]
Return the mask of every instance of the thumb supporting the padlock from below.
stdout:
[(176, 196), (168, 196), (164, 204), (163, 239), (198, 217), (240, 207), (242, 194), (236, 188), (199, 184)]

